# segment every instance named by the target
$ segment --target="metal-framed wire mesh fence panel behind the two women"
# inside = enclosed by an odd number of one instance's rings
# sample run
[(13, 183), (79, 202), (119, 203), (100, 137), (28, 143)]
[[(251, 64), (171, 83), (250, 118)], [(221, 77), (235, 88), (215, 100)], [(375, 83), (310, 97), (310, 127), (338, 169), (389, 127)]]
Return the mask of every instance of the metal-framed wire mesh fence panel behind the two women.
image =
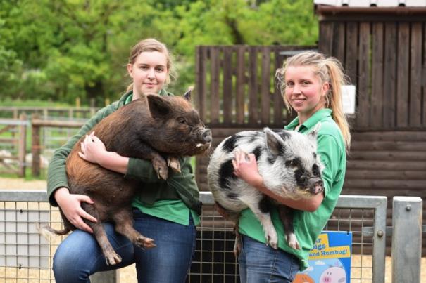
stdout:
[[(201, 201), (204, 204), (203, 215), (201, 225), (197, 227), (196, 255), (187, 282), (239, 282), (238, 263), (232, 253), (234, 246), (232, 223), (224, 221), (215, 211), (210, 192), (201, 192)], [(386, 206), (386, 197), (341, 196), (336, 210), (327, 223), (326, 230), (353, 232), (351, 282), (384, 282)], [(15, 213), (49, 211), (50, 224), (55, 228), (61, 228), (61, 217), (58, 210), (46, 202), (46, 192), (0, 190), (0, 211), (6, 209)], [(35, 225), (37, 221), (43, 219), (32, 219), (34, 223), (32, 221), (24, 223), (27, 226)], [(0, 226), (6, 225), (6, 222), (4, 219), (1, 220)], [(20, 221), (17, 221), (18, 223)], [(27, 234), (24, 232), (24, 235)], [(7, 235), (8, 231), (2, 229), (0, 239), (6, 239)], [(51, 266), (51, 258), (61, 240), (61, 237), (53, 237), (51, 242), (46, 244), (41, 241), (29, 243), (24, 239), (19, 244), (47, 247), (48, 249), (44, 250), (47, 250), (49, 255), (40, 255), (40, 258), (44, 258)], [(6, 240), (1, 244), (7, 249)], [(0, 254), (6, 252), (0, 251)], [(37, 254), (32, 256), (37, 257)], [(5, 265), (0, 266), (0, 281), (31, 279), (31, 282), (54, 282), (53, 273), (49, 268), (45, 268), (45, 265), (44, 268), (30, 268), (25, 262), (12, 265), (6, 262)]]

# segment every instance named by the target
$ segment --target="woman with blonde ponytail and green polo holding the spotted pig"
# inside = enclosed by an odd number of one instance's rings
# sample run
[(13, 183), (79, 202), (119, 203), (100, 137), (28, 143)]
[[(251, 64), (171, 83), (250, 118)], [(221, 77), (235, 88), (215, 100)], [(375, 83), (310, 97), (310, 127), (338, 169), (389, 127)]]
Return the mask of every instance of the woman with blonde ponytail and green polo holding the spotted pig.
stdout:
[[(342, 85), (346, 84), (342, 64), (335, 58), (307, 51), (287, 59), (276, 77), (284, 103), (297, 117), (285, 129), (308, 133), (318, 123), (318, 154), (324, 165), (324, 192), (308, 199), (287, 199), (275, 195), (258, 173), (256, 157), (239, 152), (234, 174), (263, 194), (293, 209), (294, 232), (300, 249), (293, 249), (284, 239), (284, 228), (277, 210), (272, 222), (278, 233), (278, 249), (266, 246), (263, 228), (250, 209), (242, 211), (239, 233), (241, 282), (292, 282), (298, 270), (308, 268), (309, 251), (325, 227), (342, 192), (346, 172), (346, 152), (351, 144), (349, 124), (342, 110)], [(296, 166), (297, 167), (297, 166)], [(294, 168), (295, 173), (298, 169)]]

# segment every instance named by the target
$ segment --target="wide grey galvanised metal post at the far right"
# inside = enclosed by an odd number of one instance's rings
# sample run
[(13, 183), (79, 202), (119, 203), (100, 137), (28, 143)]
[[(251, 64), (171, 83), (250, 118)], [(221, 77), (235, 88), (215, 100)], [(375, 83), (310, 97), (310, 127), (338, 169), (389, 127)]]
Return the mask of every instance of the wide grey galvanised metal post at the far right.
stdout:
[(420, 283), (422, 206), (420, 197), (394, 197), (392, 282)]

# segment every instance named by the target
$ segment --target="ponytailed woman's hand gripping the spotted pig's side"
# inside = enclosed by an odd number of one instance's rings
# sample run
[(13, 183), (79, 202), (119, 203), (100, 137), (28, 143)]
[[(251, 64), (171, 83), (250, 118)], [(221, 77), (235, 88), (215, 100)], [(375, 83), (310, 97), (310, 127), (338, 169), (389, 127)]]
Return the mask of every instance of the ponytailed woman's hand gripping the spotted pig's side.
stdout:
[(235, 176), (242, 178), (246, 183), (253, 187), (263, 186), (263, 178), (259, 174), (256, 157), (253, 153), (246, 154), (242, 150), (235, 151), (234, 159), (232, 159)]

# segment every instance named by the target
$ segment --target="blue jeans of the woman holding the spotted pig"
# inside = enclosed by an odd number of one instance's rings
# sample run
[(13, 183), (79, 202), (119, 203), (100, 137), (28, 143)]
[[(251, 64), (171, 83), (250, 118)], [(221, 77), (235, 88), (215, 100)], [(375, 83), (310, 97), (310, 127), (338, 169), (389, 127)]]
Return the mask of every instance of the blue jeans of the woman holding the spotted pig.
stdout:
[(300, 267), (296, 256), (282, 249), (272, 249), (246, 235), (241, 235), (241, 239), (238, 261), (242, 283), (293, 281)]

